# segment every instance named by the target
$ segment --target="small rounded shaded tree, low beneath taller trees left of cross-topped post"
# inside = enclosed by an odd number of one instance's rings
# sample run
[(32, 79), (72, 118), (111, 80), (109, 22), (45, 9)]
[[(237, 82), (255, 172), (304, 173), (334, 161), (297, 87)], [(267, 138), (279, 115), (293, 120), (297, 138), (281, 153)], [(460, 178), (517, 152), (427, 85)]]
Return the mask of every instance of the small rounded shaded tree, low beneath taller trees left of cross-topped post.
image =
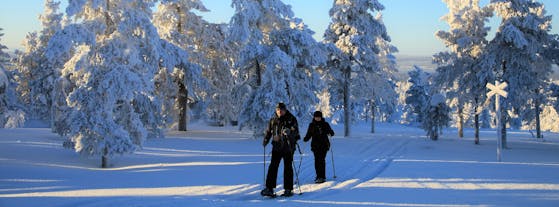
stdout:
[(421, 127), (431, 140), (438, 140), (442, 128), (448, 126), (450, 122), (450, 107), (446, 105), (445, 99), (442, 94), (435, 94), (430, 97), (429, 104), (423, 109)]

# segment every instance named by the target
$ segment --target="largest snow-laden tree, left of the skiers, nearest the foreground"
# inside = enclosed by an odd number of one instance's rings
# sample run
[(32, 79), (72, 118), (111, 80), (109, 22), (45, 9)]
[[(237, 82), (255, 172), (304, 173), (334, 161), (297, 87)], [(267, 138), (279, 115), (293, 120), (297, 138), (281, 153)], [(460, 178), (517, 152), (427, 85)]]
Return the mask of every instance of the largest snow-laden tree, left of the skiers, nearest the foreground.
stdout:
[[(59, 83), (66, 95), (67, 136), (83, 155), (133, 152), (148, 136), (162, 136), (159, 68), (180, 64), (177, 48), (162, 41), (151, 22), (154, 1), (71, 1), (73, 20), (53, 36), (47, 56), (71, 54)], [(180, 55), (180, 54), (179, 54)], [(182, 56), (185, 58), (185, 52)]]

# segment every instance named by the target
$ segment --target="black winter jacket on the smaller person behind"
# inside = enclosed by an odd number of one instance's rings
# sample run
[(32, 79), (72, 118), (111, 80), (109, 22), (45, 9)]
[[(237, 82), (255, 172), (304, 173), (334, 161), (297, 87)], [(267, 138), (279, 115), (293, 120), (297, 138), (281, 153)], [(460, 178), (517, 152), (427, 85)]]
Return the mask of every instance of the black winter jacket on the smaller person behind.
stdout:
[(304, 141), (308, 142), (312, 138), (312, 151), (328, 151), (330, 149), (330, 140), (328, 140), (328, 135), (334, 136), (334, 130), (332, 130), (330, 124), (324, 121), (324, 119), (320, 121), (313, 120), (309, 124)]

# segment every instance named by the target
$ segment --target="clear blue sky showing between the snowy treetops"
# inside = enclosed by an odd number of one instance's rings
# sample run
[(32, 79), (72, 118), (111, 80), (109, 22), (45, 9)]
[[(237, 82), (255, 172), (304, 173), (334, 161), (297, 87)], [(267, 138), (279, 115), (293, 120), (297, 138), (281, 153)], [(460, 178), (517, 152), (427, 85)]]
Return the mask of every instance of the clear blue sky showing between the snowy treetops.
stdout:
[[(202, 0), (211, 12), (204, 14), (212, 22), (228, 22), (233, 14), (231, 0)], [(489, 0), (481, 0), (487, 4)], [(64, 1), (66, 2), (66, 1)], [(328, 11), (332, 0), (284, 0), (292, 5), (293, 12), (316, 32), (315, 38), (322, 34), (330, 22)], [(383, 11), (384, 22), (392, 43), (400, 50), (398, 55), (431, 56), (444, 50), (444, 45), (435, 38), (437, 30), (448, 26), (440, 21), (448, 12), (442, 0), (380, 0), (386, 7)], [(552, 31), (557, 34), (559, 20), (559, 1), (541, 0), (548, 14), (553, 15)], [(9, 0), (0, 3), (0, 28), (4, 36), (2, 44), (9, 50), (21, 49), (21, 42), (28, 32), (41, 29), (38, 15), (43, 11), (43, 0)], [(65, 6), (64, 6), (65, 7)], [(552, 9), (554, 8), (554, 9)], [(61, 8), (64, 10), (65, 8)], [(491, 22), (494, 30), (498, 20)]]

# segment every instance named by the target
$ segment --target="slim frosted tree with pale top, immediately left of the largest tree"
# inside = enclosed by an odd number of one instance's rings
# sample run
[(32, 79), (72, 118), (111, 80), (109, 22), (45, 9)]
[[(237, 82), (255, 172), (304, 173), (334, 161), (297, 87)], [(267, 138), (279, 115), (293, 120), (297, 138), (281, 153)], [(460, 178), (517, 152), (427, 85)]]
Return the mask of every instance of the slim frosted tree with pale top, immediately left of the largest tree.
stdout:
[(60, 76), (58, 68), (47, 59), (45, 50), (50, 38), (62, 27), (63, 14), (58, 12), (60, 2), (45, 0), (45, 9), (39, 16), (43, 29), (29, 33), (23, 45), (25, 51), (17, 51), (15, 67), (20, 100), (28, 109), (30, 118), (53, 121), (51, 116), (55, 80)]

